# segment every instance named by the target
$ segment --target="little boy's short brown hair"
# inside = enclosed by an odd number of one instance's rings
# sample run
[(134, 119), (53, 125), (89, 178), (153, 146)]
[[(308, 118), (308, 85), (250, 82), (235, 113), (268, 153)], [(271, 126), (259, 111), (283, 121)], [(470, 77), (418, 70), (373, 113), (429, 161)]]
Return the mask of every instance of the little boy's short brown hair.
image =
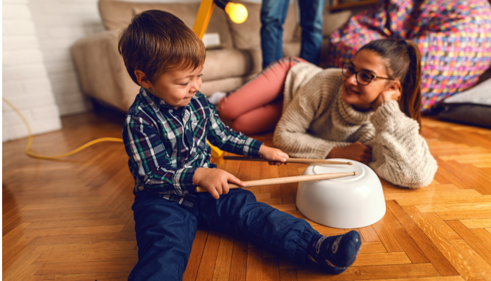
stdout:
[(175, 15), (159, 10), (135, 15), (121, 32), (118, 50), (138, 85), (135, 70), (144, 72), (154, 84), (164, 72), (196, 69), (206, 58), (203, 41)]

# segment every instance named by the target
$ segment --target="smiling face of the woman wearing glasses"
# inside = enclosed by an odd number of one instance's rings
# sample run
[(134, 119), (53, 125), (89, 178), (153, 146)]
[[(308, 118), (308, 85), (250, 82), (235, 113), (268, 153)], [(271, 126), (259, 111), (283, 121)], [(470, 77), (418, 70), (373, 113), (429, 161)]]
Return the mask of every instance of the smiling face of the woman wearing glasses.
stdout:
[[(368, 50), (359, 51), (350, 63), (355, 72), (364, 70), (377, 77), (373, 78), (368, 85), (362, 85), (356, 81), (356, 74), (350, 77), (343, 76), (342, 100), (353, 105), (356, 110), (370, 110), (372, 102), (380, 93), (393, 89), (398, 81), (382, 79), (378, 77), (389, 77), (386, 72), (386, 63), (377, 53)], [(398, 86), (396, 86), (397, 89)]]

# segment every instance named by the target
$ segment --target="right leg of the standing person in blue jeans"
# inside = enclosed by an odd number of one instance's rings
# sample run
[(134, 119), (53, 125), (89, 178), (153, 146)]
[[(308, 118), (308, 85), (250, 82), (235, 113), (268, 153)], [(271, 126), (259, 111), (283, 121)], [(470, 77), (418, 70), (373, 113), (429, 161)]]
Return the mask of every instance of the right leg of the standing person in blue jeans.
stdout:
[(322, 45), (322, 23), (324, 0), (298, 1), (300, 6), (300, 26), (302, 44), (300, 58), (318, 65)]

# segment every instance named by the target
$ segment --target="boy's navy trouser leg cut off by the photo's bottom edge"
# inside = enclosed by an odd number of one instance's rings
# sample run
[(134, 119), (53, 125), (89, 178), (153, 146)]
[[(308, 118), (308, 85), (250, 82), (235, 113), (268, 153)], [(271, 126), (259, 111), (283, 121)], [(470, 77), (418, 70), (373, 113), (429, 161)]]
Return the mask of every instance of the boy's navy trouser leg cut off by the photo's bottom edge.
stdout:
[(182, 280), (197, 230), (196, 217), (177, 202), (138, 192), (133, 204), (138, 262), (128, 280)]

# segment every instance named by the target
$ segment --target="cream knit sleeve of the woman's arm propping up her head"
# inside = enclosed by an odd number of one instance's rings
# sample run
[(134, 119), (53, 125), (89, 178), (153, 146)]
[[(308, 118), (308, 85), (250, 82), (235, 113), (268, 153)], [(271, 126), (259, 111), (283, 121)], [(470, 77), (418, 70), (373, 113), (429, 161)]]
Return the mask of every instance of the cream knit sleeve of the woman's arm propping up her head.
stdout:
[(375, 126), (375, 138), (367, 143), (372, 147), (370, 167), (395, 185), (429, 185), (438, 166), (417, 122), (401, 112), (396, 100), (378, 107), (370, 121)]

